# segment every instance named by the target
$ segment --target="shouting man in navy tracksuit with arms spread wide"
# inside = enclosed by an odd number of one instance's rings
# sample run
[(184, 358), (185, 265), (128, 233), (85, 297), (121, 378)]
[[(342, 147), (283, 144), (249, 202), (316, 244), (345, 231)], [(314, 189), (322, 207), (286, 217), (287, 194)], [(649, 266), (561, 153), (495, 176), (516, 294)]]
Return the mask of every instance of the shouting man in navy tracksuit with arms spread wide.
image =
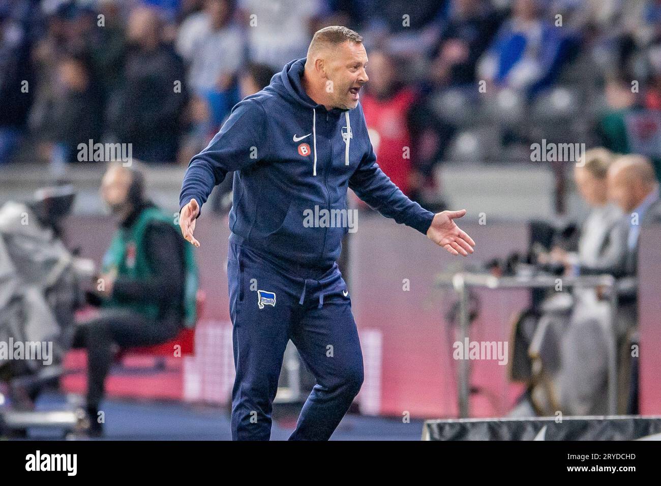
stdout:
[(235, 440), (270, 438), (290, 339), (317, 380), (290, 439), (330, 438), (363, 381), (351, 300), (335, 263), (348, 225), (312, 221), (310, 214), (346, 214), (352, 188), (383, 216), (453, 255), (473, 253), (475, 242), (453, 222), (464, 210), (435, 215), (422, 209), (376, 164), (358, 104), (366, 63), (356, 32), (319, 30), (307, 58), (288, 63), (269, 86), (239, 102), (186, 171), (180, 226), (195, 246), (202, 204), (234, 171), (227, 278)]

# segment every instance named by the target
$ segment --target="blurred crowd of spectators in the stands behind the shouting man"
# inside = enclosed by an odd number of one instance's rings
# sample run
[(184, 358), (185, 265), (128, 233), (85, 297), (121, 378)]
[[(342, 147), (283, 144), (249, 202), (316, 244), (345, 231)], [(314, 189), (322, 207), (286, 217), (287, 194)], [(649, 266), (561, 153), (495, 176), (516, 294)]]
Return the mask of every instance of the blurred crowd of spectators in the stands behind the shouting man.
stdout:
[(88, 140), (185, 165), (332, 24), (365, 38), (371, 140), (412, 198), (440, 163), (530, 162), (543, 139), (658, 169), (658, 0), (3, 0), (0, 165), (79, 163)]

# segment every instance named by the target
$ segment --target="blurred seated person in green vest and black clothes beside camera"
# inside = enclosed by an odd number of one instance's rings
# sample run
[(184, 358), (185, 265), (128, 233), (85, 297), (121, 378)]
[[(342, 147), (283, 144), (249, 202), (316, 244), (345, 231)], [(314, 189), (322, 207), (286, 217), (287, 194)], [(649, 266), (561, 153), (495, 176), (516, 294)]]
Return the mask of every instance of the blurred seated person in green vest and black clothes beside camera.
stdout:
[(175, 216), (144, 194), (144, 178), (134, 167), (111, 163), (101, 196), (118, 222), (89, 301), (98, 315), (79, 324), (74, 346), (88, 356), (89, 433), (102, 434), (98, 407), (114, 347), (165, 343), (195, 321), (197, 269), (190, 245), (178, 234)]

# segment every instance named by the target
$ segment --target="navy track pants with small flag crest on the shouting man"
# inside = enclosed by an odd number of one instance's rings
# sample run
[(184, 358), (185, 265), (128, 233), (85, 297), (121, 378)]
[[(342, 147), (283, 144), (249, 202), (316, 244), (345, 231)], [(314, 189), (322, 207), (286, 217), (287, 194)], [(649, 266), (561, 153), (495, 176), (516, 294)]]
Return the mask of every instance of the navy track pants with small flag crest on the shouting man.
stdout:
[(317, 380), (290, 440), (328, 440), (363, 382), (351, 299), (337, 265), (314, 274), (230, 241), (227, 279), (236, 369), (233, 440), (270, 438), (290, 339)]

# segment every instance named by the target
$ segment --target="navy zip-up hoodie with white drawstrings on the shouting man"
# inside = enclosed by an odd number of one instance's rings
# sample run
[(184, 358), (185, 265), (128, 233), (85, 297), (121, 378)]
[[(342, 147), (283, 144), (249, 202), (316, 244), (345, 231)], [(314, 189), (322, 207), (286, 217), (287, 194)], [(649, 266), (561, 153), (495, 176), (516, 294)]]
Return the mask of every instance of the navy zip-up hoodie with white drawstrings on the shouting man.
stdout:
[(347, 188), (383, 216), (426, 234), (434, 214), (381, 171), (360, 103), (352, 110), (315, 103), (301, 85), (304, 67), (305, 58), (291, 61), (270, 85), (234, 106), (206, 149), (190, 161), (180, 208), (192, 198), (202, 206), (214, 186), (235, 171), (230, 241), (320, 270), (339, 257), (348, 228), (306, 227), (305, 216), (315, 213), (315, 206), (329, 213), (346, 210)]

